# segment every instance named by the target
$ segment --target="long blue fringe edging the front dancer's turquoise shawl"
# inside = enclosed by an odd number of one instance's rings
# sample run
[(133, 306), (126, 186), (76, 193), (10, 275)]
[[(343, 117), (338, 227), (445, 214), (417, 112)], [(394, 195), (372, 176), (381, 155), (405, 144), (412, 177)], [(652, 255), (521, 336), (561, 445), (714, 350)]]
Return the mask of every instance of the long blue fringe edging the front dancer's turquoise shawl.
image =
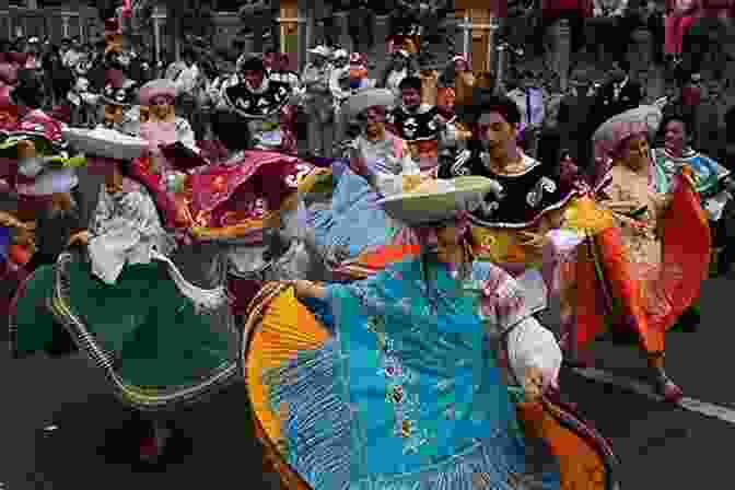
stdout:
[[(339, 394), (338, 365), (338, 347), (332, 340), (264, 374), (270, 409), (282, 418), (283, 438), (278, 445), (313, 488), (472, 490), (487, 485), (499, 490), (559, 489), (556, 459), (547, 455), (541, 468), (527, 465), (530, 454), (520, 444), (520, 434), (504, 431), (468, 442), (460, 453), (415, 471), (352, 478), (360, 455), (352, 444), (353, 413)], [(540, 458), (534, 453), (533, 463)]]

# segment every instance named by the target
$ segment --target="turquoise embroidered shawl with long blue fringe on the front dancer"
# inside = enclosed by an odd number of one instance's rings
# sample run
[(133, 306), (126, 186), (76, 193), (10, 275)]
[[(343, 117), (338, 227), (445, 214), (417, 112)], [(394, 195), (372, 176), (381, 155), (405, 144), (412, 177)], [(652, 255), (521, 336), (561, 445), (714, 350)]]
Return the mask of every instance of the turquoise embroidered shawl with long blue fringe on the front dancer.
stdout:
[[(479, 262), (457, 281), (433, 266), (425, 281), (423, 267), (412, 259), (329, 285), (334, 340), (266, 376), (273, 405), (294, 409), (289, 462), (316, 490), (470, 489), (476, 471), (510, 489), (527, 475), (478, 301), (503, 272)], [(524, 305), (514, 307), (508, 316), (523, 317)], [(463, 485), (439, 485), (455, 479)], [(537, 483), (529, 488), (558, 489), (558, 474)]]

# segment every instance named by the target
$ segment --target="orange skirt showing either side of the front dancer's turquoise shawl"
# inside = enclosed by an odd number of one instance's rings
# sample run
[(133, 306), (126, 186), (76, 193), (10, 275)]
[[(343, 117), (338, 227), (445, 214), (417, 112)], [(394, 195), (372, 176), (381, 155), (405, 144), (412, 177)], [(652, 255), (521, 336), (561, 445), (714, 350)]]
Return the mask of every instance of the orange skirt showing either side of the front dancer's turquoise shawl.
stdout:
[[(330, 334), (284, 284), (267, 284), (253, 301), (244, 328), (242, 362), (252, 423), (264, 446), (264, 469), (276, 471), (284, 488), (312, 490), (284, 457), (281, 423), (288, 407), (268, 402), (265, 371), (278, 368), (299, 352), (319, 348)], [(555, 397), (539, 404), (518, 404), (526, 436), (540, 438), (559, 460), (561, 488), (612, 490), (618, 462), (609, 445), (574, 410)], [(328, 490), (328, 489), (319, 489)]]

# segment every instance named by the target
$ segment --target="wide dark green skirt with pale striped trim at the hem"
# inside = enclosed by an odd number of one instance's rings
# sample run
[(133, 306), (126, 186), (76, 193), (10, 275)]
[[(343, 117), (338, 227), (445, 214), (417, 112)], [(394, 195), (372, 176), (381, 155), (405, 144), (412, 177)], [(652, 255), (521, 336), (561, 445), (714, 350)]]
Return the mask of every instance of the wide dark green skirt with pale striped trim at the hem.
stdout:
[(14, 351), (47, 350), (59, 323), (117, 393), (141, 409), (197, 400), (238, 372), (229, 305), (197, 311), (160, 262), (126, 266), (114, 285), (68, 254), (38, 269), (11, 312)]

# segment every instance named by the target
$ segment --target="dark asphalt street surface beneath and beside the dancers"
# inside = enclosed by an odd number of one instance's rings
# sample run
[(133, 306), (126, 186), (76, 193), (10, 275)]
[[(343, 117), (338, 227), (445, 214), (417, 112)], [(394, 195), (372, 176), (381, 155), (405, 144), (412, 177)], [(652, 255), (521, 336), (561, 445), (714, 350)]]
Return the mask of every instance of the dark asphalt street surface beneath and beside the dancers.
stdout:
[[(726, 320), (732, 287), (728, 279), (705, 283), (702, 327), (696, 334), (669, 336), (668, 365), (689, 397), (735, 407), (735, 392), (726, 377), (730, 369), (725, 368), (733, 346)], [(629, 378), (643, 375), (644, 362), (631, 348), (602, 342), (596, 354), (598, 368), (608, 373)], [(180, 413), (178, 422), (192, 440), (188, 454), (164, 472), (144, 474), (132, 471), (119, 451), (110, 451), (129, 415), (84, 359), (39, 355), (13, 361), (0, 349), (0, 383), (4, 388), (0, 421), (3, 490), (96, 490), (101, 485), (188, 489), (211, 485), (213, 479), (271, 488), (261, 475), (260, 456), (247, 425), (242, 384)], [(735, 440), (735, 409), (722, 416), (732, 421), (727, 422), (569, 371), (563, 373), (562, 386), (611, 440), (622, 459), (626, 490), (730, 488), (724, 482), (731, 476), (727, 448)]]

